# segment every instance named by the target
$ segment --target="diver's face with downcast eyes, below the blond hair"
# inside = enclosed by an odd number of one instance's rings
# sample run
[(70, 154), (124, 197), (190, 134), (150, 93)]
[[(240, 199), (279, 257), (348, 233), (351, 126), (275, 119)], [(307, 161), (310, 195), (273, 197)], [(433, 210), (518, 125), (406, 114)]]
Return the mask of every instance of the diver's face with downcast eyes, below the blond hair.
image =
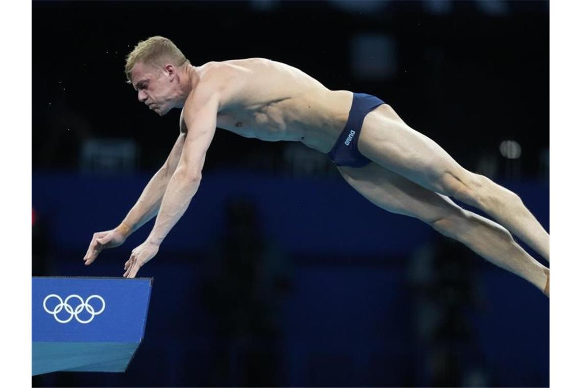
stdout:
[(132, 85), (137, 90), (137, 99), (160, 116), (175, 106), (178, 82), (172, 70), (167, 72), (138, 62), (132, 69)]

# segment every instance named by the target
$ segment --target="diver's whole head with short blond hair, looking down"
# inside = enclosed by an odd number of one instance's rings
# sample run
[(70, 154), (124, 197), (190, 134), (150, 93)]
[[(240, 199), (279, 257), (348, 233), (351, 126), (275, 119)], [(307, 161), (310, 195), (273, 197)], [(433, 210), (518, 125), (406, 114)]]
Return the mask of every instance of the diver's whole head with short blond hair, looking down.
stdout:
[(139, 101), (163, 116), (183, 104), (190, 90), (189, 65), (171, 40), (155, 36), (140, 41), (127, 55), (125, 74)]

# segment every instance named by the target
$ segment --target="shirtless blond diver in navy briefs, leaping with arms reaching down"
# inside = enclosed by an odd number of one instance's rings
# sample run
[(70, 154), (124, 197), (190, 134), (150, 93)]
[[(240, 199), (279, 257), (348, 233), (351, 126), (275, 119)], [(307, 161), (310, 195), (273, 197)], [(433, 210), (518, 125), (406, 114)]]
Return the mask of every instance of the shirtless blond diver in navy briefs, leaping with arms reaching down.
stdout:
[[(148, 238), (125, 263), (123, 276), (136, 276), (196, 194), (206, 151), (220, 127), (261, 140), (300, 141), (328, 154), (347, 183), (373, 204), (424, 221), (549, 296), (549, 269), (510, 234), (549, 262), (549, 234), (520, 198), (464, 169), (380, 99), (329, 90), (299, 69), (268, 59), (195, 67), (164, 37), (139, 42), (127, 56), (125, 71), (137, 98), (150, 110), (163, 116), (182, 108), (180, 133), (125, 219), (115, 229), (94, 234), (86, 265), (157, 216)], [(481, 209), (496, 222), (449, 197)]]

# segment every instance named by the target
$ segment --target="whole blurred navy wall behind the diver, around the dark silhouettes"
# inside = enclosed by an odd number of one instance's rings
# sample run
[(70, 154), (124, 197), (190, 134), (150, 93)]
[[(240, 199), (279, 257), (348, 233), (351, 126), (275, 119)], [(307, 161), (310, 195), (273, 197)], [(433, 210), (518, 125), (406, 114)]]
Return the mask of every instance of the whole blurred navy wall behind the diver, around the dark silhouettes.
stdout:
[[(51, 275), (122, 275), (123, 262), (147, 231), (102, 252), (90, 267), (81, 258), (91, 234), (115, 226), (147, 179), (34, 174), (33, 207), (49, 222), (52, 236)], [(508, 186), (548, 227), (548, 186)], [(225, 227), (223, 204), (240, 195), (255, 202), (268, 240), (288, 257), (281, 261), (288, 286), (275, 298), (272, 315), (278, 329), (268, 340), (217, 334), (205, 299), (204, 284), (213, 279), (211, 252)], [(249, 370), (262, 368), (275, 375), (269, 383), (286, 386), (428, 385), (430, 347), (414, 329), (410, 263), (439, 238), (417, 220), (374, 207), (340, 180), (205, 175), (184, 218), (140, 271), (155, 281), (145, 341), (129, 371), (56, 373), (44, 376), (44, 383), (245, 385)], [(462, 368), (486, 368), (491, 386), (548, 386), (548, 299), (466, 251), (480, 297), (464, 312), (470, 337), (459, 344)], [(249, 364), (251, 353), (260, 365)], [(219, 357), (228, 359), (217, 362)]]

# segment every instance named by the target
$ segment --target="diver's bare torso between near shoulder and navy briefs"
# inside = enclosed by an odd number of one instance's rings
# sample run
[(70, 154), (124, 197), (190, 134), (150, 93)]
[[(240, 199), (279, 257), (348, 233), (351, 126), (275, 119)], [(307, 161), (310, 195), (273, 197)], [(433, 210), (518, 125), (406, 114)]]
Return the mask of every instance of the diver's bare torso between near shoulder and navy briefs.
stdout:
[(347, 121), (352, 92), (329, 90), (279, 62), (245, 59), (221, 65), (231, 63), (236, 66), (230, 70), (240, 73), (227, 83), (230, 95), (218, 112), (217, 127), (243, 137), (301, 141), (320, 152), (331, 150)]

